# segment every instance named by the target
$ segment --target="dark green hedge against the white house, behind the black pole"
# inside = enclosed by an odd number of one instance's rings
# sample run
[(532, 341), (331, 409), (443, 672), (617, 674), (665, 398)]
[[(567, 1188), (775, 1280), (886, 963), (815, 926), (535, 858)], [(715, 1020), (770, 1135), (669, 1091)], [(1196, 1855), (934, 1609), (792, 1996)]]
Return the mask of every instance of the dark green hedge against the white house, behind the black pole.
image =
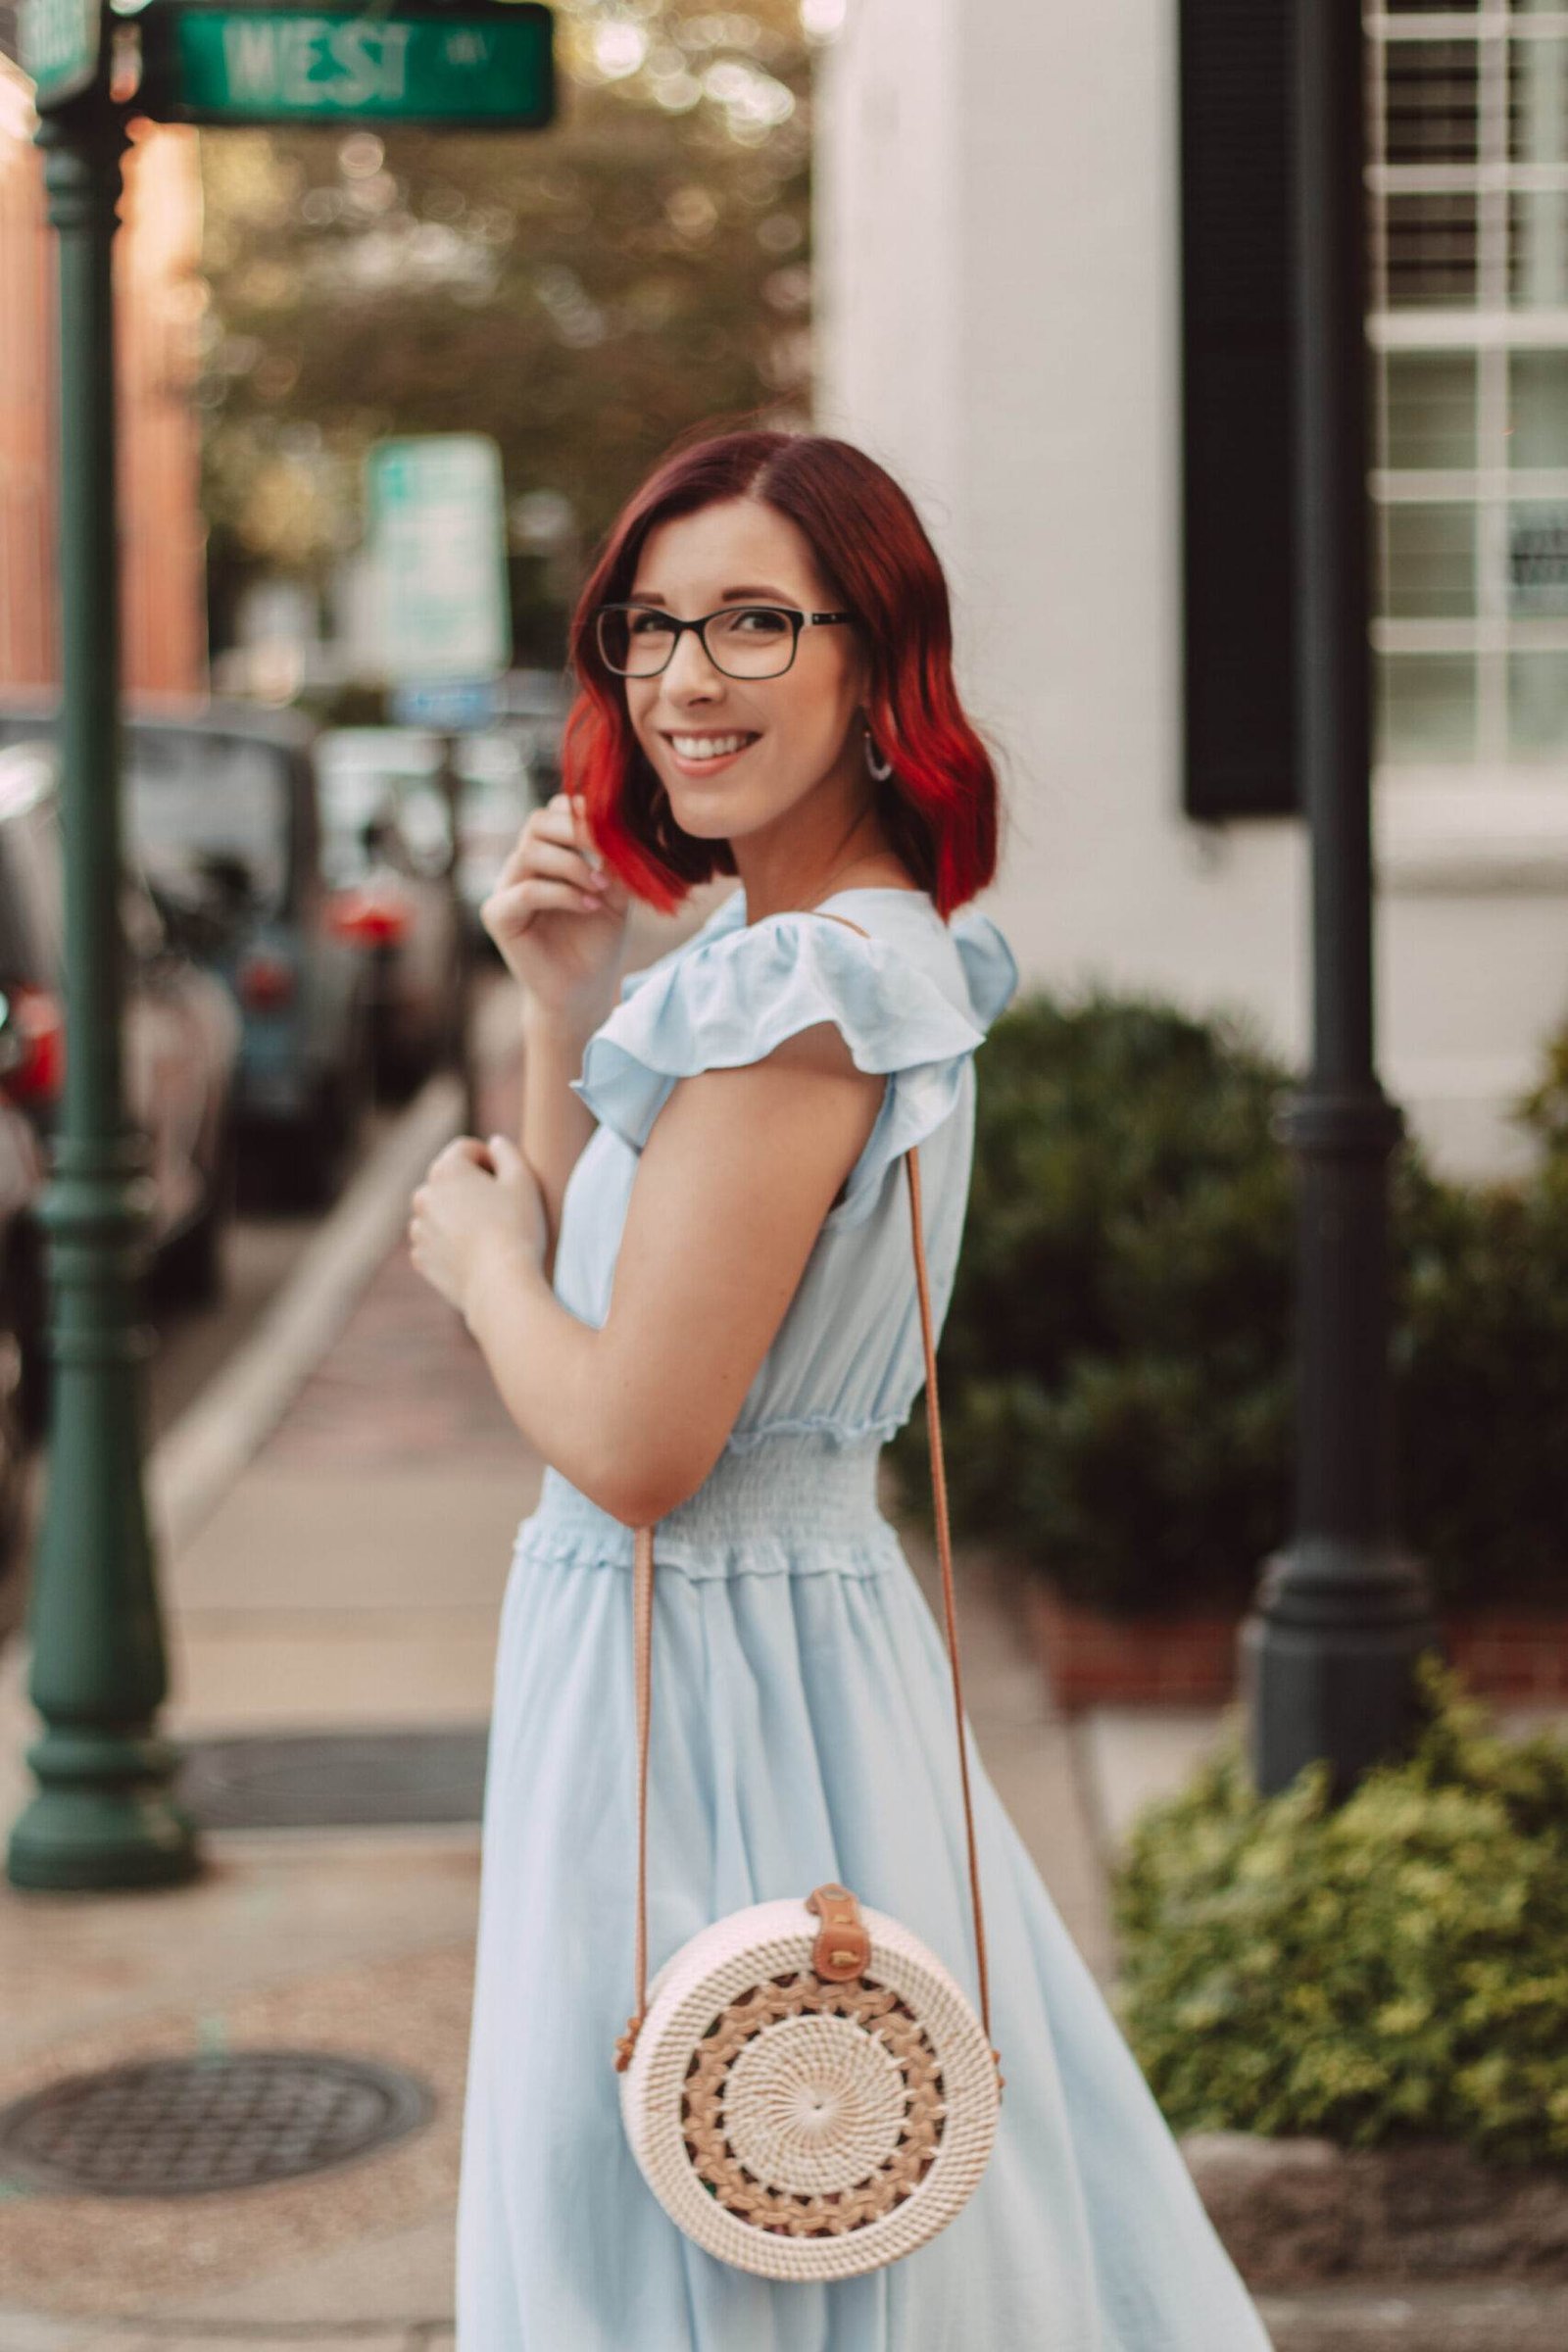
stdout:
[[(1403, 1538), (1448, 1602), (1568, 1590), (1568, 1040), (1523, 1185), (1389, 1171)], [(1288, 1531), (1293, 1073), (1237, 1016), (1023, 997), (980, 1058), (943, 1331), (954, 1526), (1119, 1613), (1241, 1609)], [(924, 1418), (893, 1442), (926, 1508)]]

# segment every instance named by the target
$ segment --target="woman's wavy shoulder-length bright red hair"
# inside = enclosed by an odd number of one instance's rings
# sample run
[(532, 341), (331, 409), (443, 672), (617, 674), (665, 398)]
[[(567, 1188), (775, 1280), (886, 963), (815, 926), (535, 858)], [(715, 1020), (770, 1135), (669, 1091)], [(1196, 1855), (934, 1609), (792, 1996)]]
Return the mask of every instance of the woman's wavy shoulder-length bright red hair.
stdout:
[(599, 659), (595, 614), (630, 595), (649, 532), (722, 499), (762, 499), (804, 532), (835, 604), (853, 612), (867, 661), (865, 715), (884, 757), (877, 807), (889, 840), (943, 920), (997, 870), (997, 774), (952, 682), (947, 581), (914, 506), (851, 442), (823, 433), (722, 433), (675, 449), (628, 501), (571, 616), (578, 696), (564, 779), (595, 847), (625, 887), (672, 913), (696, 882), (733, 875), (724, 840), (682, 833), (632, 734), (625, 684)]

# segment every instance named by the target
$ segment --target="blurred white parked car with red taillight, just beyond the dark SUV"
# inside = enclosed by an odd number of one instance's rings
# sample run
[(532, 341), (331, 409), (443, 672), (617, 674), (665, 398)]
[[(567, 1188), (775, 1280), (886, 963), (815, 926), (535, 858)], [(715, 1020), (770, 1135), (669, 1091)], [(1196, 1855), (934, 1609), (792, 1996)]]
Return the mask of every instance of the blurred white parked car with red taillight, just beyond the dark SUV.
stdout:
[(315, 757), (334, 922), (367, 962), (378, 1080), (407, 1091), (449, 1051), (468, 953), (440, 764), (409, 757), (393, 727), (331, 727)]

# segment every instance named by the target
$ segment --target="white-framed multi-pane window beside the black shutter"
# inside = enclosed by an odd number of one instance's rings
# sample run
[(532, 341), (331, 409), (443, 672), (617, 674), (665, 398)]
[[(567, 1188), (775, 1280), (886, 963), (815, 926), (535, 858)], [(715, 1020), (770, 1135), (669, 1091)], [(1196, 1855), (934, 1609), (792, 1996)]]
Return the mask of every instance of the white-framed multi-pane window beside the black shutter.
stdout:
[(1378, 760), (1563, 764), (1568, 7), (1366, 33)]

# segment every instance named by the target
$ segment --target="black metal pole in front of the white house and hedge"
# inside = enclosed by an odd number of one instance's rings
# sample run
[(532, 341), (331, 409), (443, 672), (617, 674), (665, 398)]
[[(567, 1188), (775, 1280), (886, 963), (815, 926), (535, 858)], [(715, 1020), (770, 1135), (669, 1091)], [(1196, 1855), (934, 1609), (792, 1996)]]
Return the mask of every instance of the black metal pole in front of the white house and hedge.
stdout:
[(1258, 1788), (1326, 1759), (1342, 1795), (1408, 1745), (1432, 1595), (1394, 1536), (1389, 1155), (1375, 1075), (1361, 0), (1295, 0), (1293, 268), (1302, 790), (1312, 1068), (1298, 1162), (1295, 1524), (1241, 1630)]

